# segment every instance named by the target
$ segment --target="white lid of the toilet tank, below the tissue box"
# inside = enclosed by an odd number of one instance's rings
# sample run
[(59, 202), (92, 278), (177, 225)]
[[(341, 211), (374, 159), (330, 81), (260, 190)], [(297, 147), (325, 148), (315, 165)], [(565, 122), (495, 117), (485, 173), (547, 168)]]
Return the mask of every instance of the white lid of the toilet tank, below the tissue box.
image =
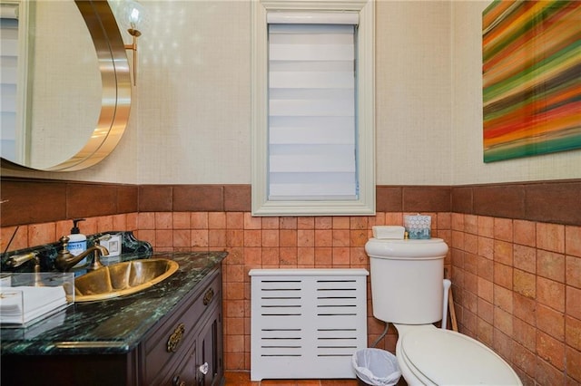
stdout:
[(443, 258), (448, 253), (448, 245), (441, 238), (427, 239), (379, 239), (369, 238), (365, 252), (370, 257), (379, 258)]

